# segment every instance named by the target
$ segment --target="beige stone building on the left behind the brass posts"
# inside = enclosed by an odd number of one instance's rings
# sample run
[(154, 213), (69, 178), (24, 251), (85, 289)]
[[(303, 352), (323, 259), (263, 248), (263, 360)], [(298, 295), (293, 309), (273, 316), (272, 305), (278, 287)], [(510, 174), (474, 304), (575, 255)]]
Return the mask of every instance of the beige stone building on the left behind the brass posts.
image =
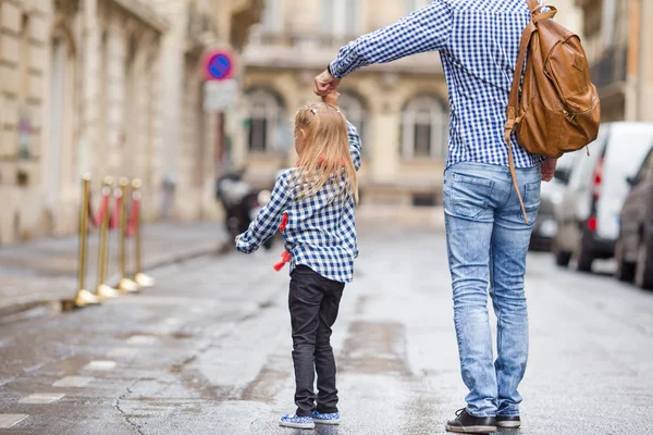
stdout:
[(148, 220), (213, 212), (218, 138), (199, 59), (242, 49), (261, 10), (0, 0), (0, 245), (74, 233), (86, 172), (96, 189), (104, 175), (143, 178)]

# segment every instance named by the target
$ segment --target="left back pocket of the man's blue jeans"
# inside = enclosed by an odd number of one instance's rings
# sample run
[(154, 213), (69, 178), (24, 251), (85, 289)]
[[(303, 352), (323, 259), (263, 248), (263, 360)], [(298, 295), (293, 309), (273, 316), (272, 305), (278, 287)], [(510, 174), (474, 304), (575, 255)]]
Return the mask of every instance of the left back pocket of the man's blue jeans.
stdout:
[(461, 217), (476, 219), (488, 210), (494, 181), (458, 173), (452, 174), (453, 210)]

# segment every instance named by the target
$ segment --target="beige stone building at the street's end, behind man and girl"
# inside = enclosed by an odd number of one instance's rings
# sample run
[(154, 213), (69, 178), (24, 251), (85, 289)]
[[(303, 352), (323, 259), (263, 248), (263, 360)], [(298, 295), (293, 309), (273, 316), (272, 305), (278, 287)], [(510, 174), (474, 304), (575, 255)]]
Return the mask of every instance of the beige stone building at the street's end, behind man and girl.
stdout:
[[(579, 29), (572, 0), (558, 20)], [(428, 0), (268, 0), (244, 52), (248, 119), (236, 160), (251, 179), (270, 184), (292, 164), (289, 117), (315, 100), (312, 79), (340, 47), (423, 7)], [(441, 203), (447, 152), (447, 88), (438, 53), (424, 53), (346, 77), (342, 109), (360, 127), (361, 202), (411, 208)]]

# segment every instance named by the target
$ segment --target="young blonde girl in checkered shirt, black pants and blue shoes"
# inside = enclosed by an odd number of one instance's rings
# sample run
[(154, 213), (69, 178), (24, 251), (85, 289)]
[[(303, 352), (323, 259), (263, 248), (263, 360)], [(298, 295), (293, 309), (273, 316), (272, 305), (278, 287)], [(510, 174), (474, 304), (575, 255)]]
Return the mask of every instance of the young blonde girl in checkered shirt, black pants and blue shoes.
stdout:
[(284, 257), (291, 263), (288, 304), (297, 405), (294, 415), (281, 418), (280, 425), (286, 427), (340, 423), (330, 339), (345, 283), (352, 282), (358, 257), (354, 207), (360, 137), (337, 109), (337, 97), (332, 92), (322, 103), (299, 109), (295, 115), (299, 161), (280, 175), (270, 202), (236, 238), (238, 251), (251, 253), (283, 221)]

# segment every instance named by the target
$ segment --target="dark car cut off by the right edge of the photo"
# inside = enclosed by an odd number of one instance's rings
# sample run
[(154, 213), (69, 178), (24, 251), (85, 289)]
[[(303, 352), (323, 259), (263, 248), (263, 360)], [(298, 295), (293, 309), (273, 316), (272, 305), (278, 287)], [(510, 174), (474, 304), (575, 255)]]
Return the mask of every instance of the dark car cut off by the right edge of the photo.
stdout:
[(653, 148), (634, 177), (620, 214), (616, 276), (653, 289)]

